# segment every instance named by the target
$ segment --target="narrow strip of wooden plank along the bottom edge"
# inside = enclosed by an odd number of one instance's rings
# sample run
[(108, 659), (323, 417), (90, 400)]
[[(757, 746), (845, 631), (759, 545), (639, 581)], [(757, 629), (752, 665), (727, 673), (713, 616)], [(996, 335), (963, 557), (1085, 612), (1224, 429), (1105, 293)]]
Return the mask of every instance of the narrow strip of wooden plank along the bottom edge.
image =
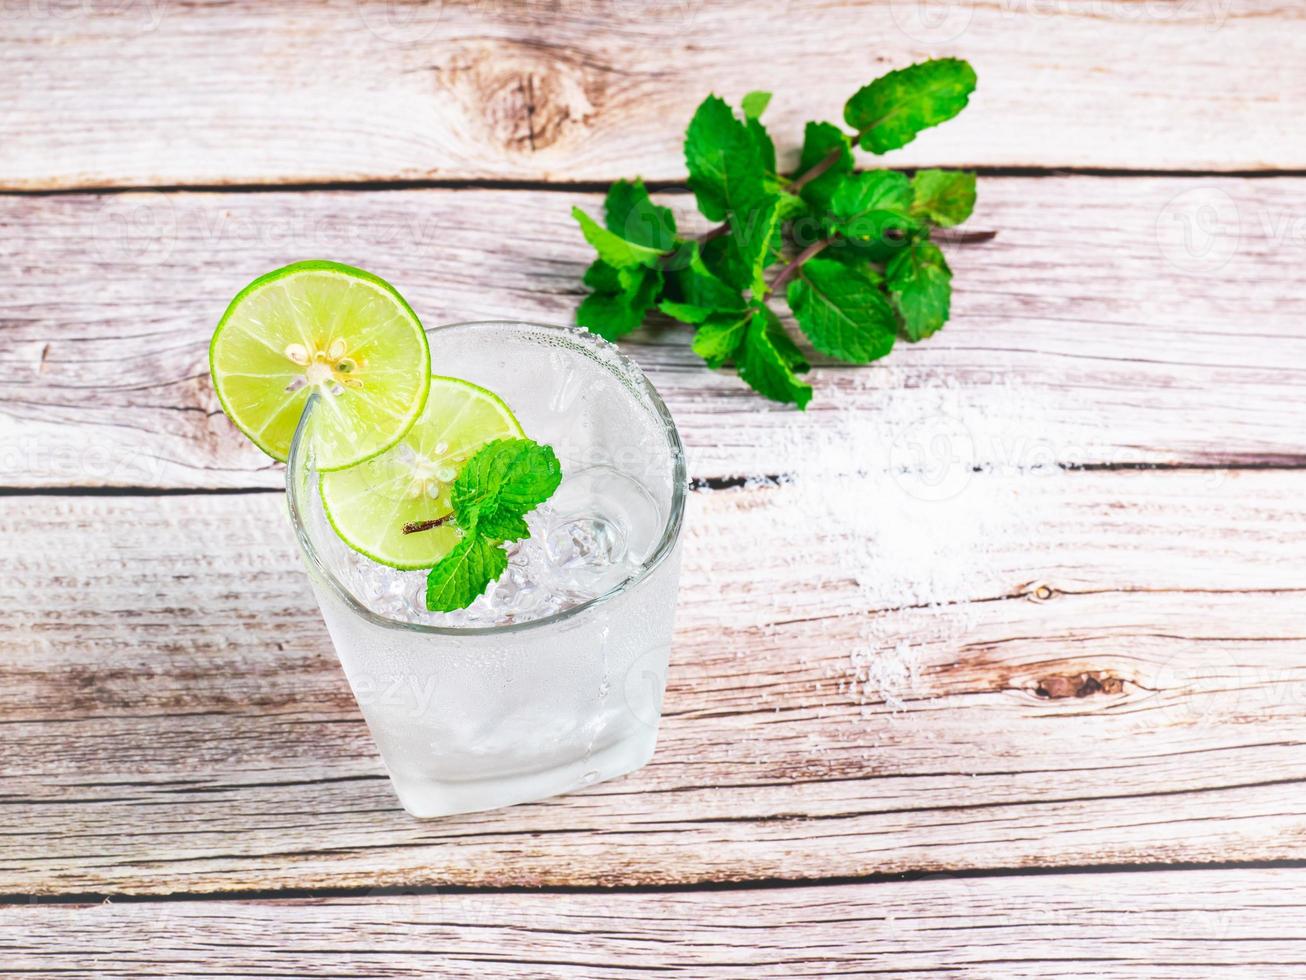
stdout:
[(1284, 869), (0, 908), (17, 973), (1190, 977), (1306, 968)]

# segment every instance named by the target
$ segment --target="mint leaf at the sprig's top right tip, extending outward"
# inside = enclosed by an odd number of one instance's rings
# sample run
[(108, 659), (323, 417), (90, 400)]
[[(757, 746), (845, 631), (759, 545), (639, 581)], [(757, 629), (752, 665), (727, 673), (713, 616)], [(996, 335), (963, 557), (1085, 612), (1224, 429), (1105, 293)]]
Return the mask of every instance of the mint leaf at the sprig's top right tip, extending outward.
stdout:
[(966, 61), (921, 61), (858, 90), (844, 106), (844, 122), (861, 135), (863, 150), (885, 153), (952, 119), (966, 107), (974, 88), (976, 73)]

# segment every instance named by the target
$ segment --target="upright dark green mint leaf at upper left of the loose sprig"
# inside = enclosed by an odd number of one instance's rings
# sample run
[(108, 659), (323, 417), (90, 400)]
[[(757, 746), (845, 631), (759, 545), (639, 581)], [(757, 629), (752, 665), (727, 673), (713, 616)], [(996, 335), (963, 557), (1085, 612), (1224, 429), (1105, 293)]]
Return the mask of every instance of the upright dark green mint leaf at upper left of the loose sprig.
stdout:
[(767, 169), (754, 137), (716, 95), (705, 98), (690, 120), (684, 162), (699, 210), (712, 221), (755, 206), (765, 193)]

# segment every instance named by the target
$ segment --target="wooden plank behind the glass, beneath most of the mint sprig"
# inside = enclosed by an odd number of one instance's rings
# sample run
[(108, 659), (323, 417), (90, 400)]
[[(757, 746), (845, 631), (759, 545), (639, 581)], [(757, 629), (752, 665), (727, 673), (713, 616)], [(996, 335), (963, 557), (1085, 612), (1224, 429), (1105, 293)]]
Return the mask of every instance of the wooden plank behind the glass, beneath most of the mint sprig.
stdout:
[[(671, 405), (696, 477), (936, 465), (940, 444), (963, 469), (1301, 463), (1303, 193), (1299, 179), (985, 179), (974, 222), (999, 238), (949, 250), (953, 321), (878, 365), (819, 365), (807, 413), (707, 371), (680, 328), (626, 349)], [(1238, 234), (1185, 244), (1212, 201)], [(0, 267), (21, 274), (0, 282), (0, 486), (276, 486), (279, 468), (227, 423), (206, 376), (240, 284), (330, 255), (396, 282), (430, 324), (568, 323), (590, 256), (572, 204), (598, 199), (3, 199)]]

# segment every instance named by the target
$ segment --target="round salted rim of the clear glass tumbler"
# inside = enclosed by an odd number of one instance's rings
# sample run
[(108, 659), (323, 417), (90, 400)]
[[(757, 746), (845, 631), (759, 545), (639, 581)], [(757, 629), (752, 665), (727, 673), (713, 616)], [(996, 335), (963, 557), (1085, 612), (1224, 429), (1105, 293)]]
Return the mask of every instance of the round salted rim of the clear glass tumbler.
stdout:
[(307, 466), (307, 463), (303, 459), (303, 444), (306, 440), (302, 436), (304, 434), (304, 426), (313, 405), (321, 397), (320, 395), (313, 393), (310, 395), (308, 400), (304, 402), (304, 410), (300, 413), (299, 422), (295, 425), (295, 435), (291, 439), (290, 456), (286, 461), (286, 500), (290, 508), (290, 523), (295, 529), (295, 537), (299, 541), (299, 547), (308, 562), (310, 572), (316, 571), (332, 592), (334, 592), (336, 596), (345, 602), (346, 608), (363, 619), (384, 629), (430, 634), (432, 636), (499, 636), (504, 634), (529, 632), (532, 630), (546, 629), (549, 626), (565, 622), (572, 617), (580, 615), (581, 613), (603, 605), (618, 596), (623, 596), (637, 588), (640, 583), (648, 579), (662, 564), (662, 562), (666, 561), (667, 555), (671, 554), (677, 542), (680, 540), (680, 529), (684, 525), (684, 502), (688, 491), (688, 470), (684, 460), (684, 443), (680, 440), (680, 433), (675, 427), (675, 421), (671, 418), (671, 413), (667, 410), (666, 402), (662, 401), (662, 396), (658, 395), (657, 388), (654, 388), (652, 382), (649, 382), (643, 368), (623, 354), (615, 344), (610, 344), (598, 335), (576, 327), (555, 327), (529, 320), (469, 320), (465, 323), (447, 323), (424, 329), (430, 336), (438, 333), (439, 331), (451, 331), (464, 327), (528, 327), (559, 335), (584, 336), (586, 344), (596, 344), (605, 349), (618, 361), (618, 363), (631, 371), (631, 376), (639, 379), (644, 396), (648, 399), (666, 430), (667, 451), (671, 455), (671, 508), (667, 514), (666, 523), (662, 527), (662, 536), (658, 538), (653, 553), (643, 563), (640, 563), (640, 567), (635, 572), (613, 588), (607, 589), (607, 592), (594, 596), (593, 598), (588, 598), (575, 606), (569, 606), (560, 613), (551, 613), (550, 615), (541, 617), (539, 619), (528, 619), (521, 623), (500, 623), (498, 626), (432, 626), (430, 623), (411, 623), (404, 619), (390, 619), (380, 613), (375, 613), (364, 606), (354, 596), (354, 593), (346, 588), (336, 572), (333, 572), (329, 567), (326, 567), (325, 562), (323, 562), (321, 555), (317, 553), (317, 546), (313, 544), (312, 536), (308, 533), (303, 510), (306, 502), (299, 499), (299, 494), (295, 490), (296, 481), (294, 474)]

